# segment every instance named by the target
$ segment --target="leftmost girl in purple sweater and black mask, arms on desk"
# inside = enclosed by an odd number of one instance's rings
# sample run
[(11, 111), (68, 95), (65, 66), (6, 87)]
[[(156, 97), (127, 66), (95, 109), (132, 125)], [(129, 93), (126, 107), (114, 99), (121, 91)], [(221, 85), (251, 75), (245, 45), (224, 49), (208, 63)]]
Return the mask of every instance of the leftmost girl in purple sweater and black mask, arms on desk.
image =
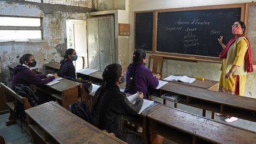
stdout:
[[(53, 79), (57, 78), (57, 74), (55, 73), (54, 76), (47, 76), (47, 75), (37, 75), (31, 71), (31, 67), (36, 66), (36, 60), (34, 56), (31, 54), (25, 54), (20, 58), (20, 64), (14, 67), (13, 72), (14, 76), (12, 77), (12, 89), (17, 84), (23, 84), (27, 87), (30, 87), (31, 84), (33, 85), (45, 85), (48, 82), (53, 81)], [(40, 95), (37, 95), (40, 97)], [(47, 100), (44, 98), (40, 98), (41, 103), (45, 103)]]

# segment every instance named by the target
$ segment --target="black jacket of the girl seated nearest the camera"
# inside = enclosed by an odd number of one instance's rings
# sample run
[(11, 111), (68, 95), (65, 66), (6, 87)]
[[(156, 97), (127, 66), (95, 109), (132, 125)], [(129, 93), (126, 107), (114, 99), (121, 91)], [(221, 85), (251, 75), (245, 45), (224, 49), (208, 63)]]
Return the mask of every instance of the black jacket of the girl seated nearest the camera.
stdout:
[(97, 89), (93, 98), (93, 124), (99, 129), (107, 130), (125, 140), (126, 134), (123, 133), (122, 127), (123, 115), (137, 114), (142, 104), (142, 98), (138, 98), (136, 103), (132, 104), (117, 85), (104, 84)]

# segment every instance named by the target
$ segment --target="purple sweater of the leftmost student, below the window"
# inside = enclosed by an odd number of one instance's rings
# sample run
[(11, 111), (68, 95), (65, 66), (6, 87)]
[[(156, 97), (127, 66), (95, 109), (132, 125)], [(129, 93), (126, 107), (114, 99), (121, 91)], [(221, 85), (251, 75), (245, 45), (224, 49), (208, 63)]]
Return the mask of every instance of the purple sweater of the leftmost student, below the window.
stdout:
[(30, 69), (21, 65), (15, 66), (13, 72), (14, 76), (12, 77), (12, 89), (17, 84), (23, 84), (30, 87), (30, 84), (45, 85), (55, 79), (55, 76), (50, 76), (50, 78), (46, 78), (46, 75), (35, 75), (33, 72), (30, 71)]

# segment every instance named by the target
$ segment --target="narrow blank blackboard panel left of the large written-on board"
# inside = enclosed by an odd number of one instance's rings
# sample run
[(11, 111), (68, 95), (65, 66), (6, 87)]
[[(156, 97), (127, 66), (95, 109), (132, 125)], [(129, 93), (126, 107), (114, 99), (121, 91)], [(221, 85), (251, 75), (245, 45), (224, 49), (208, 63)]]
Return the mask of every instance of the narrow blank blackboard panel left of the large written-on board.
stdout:
[(152, 51), (153, 12), (135, 13), (135, 49)]

